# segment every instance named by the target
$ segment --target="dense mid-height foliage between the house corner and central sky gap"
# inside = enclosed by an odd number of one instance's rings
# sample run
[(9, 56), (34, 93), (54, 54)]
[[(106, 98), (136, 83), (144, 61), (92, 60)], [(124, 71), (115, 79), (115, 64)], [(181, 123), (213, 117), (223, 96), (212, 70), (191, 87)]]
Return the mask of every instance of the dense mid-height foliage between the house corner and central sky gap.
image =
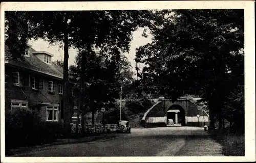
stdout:
[(95, 112), (105, 107), (106, 110), (114, 107), (116, 98), (120, 96), (120, 86), (127, 86), (133, 80), (131, 64), (121, 55), (120, 69), (116, 65), (115, 57), (104, 56), (89, 49), (78, 53), (76, 65), (70, 67), (72, 82), (80, 88), (84, 78), (83, 102)]

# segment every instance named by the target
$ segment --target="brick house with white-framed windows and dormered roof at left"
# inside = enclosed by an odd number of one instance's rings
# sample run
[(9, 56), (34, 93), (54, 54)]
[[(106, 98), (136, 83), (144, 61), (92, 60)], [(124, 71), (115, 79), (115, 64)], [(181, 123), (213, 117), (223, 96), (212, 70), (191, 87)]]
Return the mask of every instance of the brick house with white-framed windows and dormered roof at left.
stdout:
[[(52, 62), (53, 55), (27, 45), (24, 59), (14, 60), (8, 49), (5, 46), (5, 109), (27, 107), (37, 110), (46, 122), (61, 122), (64, 117), (63, 69)], [(75, 105), (72, 86), (71, 83), (71, 107)]]

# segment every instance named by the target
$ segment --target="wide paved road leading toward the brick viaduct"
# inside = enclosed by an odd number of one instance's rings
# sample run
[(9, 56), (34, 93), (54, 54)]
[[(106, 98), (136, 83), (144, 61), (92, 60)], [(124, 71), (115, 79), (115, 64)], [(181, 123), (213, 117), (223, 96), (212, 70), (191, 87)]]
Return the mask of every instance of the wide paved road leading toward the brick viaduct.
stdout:
[(37, 148), (14, 156), (222, 156), (199, 127), (158, 127), (116, 133), (116, 138)]

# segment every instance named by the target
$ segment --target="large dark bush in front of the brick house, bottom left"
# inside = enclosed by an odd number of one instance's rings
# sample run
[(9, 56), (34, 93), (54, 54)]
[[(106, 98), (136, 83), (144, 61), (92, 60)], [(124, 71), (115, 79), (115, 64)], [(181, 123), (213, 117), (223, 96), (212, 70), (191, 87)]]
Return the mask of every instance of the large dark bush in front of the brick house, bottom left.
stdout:
[(36, 111), (20, 108), (5, 115), (6, 148), (52, 142), (59, 126), (42, 122)]

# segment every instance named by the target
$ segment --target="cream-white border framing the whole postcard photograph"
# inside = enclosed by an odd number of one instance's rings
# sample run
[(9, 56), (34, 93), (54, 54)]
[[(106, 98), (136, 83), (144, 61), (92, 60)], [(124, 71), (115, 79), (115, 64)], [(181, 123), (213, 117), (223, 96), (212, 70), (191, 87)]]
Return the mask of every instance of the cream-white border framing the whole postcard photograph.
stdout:
[[(245, 9), (245, 157), (5, 157), (4, 11)], [(188, 162), (255, 161), (254, 1), (8, 2), (1, 3), (1, 161), (3, 162)], [(150, 142), (149, 142), (150, 143)]]

